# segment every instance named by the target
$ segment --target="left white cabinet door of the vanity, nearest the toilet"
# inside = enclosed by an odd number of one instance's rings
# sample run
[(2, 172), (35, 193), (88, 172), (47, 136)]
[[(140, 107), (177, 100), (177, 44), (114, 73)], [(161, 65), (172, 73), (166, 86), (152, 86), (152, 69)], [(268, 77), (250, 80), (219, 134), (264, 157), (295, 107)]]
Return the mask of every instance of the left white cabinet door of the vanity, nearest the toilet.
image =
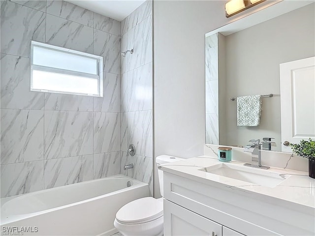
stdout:
[(164, 199), (164, 236), (222, 236), (222, 225)]

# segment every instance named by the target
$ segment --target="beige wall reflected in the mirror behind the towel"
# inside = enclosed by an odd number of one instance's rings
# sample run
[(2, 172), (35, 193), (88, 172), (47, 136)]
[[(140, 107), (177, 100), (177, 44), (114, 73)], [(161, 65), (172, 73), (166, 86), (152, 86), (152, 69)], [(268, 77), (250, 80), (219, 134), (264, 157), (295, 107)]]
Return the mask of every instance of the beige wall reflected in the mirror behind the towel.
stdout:
[[(315, 4), (225, 37), (226, 97), (220, 104), (228, 116), (222, 145), (248, 144), (250, 139), (275, 138), (281, 150), (279, 64), (315, 55)], [(236, 101), (230, 97), (273, 93), (263, 98), (260, 125), (236, 125)]]

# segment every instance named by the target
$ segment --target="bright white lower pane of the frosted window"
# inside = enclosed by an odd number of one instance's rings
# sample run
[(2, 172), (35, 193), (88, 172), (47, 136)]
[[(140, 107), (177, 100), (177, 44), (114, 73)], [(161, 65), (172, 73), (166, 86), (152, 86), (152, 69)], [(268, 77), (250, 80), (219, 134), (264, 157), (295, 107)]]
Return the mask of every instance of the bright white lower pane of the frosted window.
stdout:
[(97, 79), (33, 70), (32, 89), (98, 94), (98, 83)]

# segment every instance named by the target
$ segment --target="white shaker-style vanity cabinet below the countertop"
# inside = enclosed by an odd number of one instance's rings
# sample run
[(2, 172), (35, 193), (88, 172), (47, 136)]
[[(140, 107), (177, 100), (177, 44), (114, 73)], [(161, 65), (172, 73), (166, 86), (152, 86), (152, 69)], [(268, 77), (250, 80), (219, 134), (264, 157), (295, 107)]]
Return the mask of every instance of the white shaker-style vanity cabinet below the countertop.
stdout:
[(194, 176), (163, 175), (165, 236), (314, 235), (313, 213), (303, 206), (292, 209), (285, 201)]

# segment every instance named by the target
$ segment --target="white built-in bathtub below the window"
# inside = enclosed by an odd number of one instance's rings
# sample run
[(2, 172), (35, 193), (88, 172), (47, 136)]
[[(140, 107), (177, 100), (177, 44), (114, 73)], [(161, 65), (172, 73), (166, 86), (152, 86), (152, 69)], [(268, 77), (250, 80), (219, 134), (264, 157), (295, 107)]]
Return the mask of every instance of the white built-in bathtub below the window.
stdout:
[(117, 175), (2, 198), (1, 235), (113, 235), (119, 208), (148, 194), (148, 184)]

